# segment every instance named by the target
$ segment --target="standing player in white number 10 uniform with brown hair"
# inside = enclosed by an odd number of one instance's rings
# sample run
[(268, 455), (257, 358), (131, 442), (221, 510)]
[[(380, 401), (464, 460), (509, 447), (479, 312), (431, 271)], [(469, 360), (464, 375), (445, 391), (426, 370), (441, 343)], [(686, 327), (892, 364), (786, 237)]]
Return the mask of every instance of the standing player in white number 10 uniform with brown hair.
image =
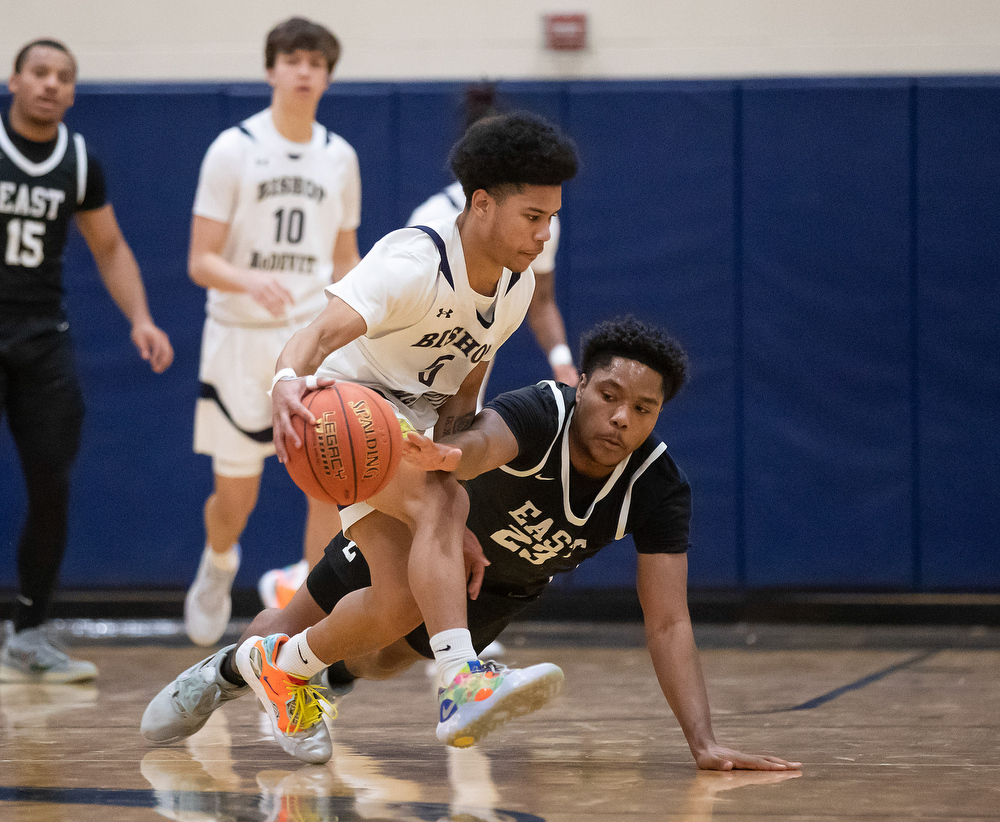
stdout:
[[(340, 56), (323, 26), (293, 17), (265, 46), (271, 106), (222, 132), (205, 155), (188, 268), (208, 289), (194, 449), (212, 457), (206, 544), (184, 601), (188, 636), (225, 632), (239, 539), (274, 454), (268, 388), (278, 354), (326, 305), (323, 289), (358, 262), (361, 180), (354, 149), (316, 122)], [(303, 569), (340, 530), (309, 499)]]

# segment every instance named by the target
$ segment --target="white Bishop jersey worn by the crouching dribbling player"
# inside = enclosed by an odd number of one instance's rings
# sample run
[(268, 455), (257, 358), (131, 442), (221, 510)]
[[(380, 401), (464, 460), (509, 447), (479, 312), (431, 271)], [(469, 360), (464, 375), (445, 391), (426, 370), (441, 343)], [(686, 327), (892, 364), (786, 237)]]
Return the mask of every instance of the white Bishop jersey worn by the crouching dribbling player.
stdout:
[[(496, 294), (469, 285), (455, 217), (393, 231), (327, 292), (357, 311), (367, 333), (334, 351), (319, 376), (367, 385), (391, 395), (414, 428), (437, 422), (477, 364), (497, 349), (528, 311), (535, 276), (508, 269)], [(440, 247), (438, 245), (440, 240)]]

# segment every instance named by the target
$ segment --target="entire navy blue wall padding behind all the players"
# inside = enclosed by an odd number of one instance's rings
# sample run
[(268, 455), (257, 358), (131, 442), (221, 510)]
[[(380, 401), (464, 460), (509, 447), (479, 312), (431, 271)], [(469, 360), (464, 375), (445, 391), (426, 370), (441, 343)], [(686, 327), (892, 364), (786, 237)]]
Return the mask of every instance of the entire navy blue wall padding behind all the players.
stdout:
[[(335, 83), (319, 117), (356, 148), (359, 244), (450, 181), (456, 83)], [(557, 298), (574, 349), (629, 311), (670, 328), (692, 380), (659, 432), (694, 488), (694, 588), (1000, 587), (1000, 79), (519, 82), (559, 121)], [(191, 453), (204, 294), (186, 275), (211, 140), (263, 84), (81, 86), (68, 121), (101, 158), (176, 362), (153, 375), (75, 236), (67, 302), (87, 398), (67, 587), (183, 588), (208, 459)], [(6, 107), (6, 100), (0, 100)], [(527, 328), (490, 393), (548, 376)], [(274, 461), (271, 461), (274, 463)], [(0, 587), (24, 507), (0, 430)], [(305, 506), (265, 471), (237, 584), (297, 558)], [(629, 541), (564, 580), (630, 585)]]

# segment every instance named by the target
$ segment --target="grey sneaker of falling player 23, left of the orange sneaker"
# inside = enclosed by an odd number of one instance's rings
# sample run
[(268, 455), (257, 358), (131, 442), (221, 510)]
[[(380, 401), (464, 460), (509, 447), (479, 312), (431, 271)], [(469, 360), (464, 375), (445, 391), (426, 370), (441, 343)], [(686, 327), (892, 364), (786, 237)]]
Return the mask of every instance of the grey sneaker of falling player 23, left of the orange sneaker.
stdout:
[(222, 660), (236, 645), (228, 645), (192, 665), (146, 706), (139, 730), (150, 742), (174, 742), (200, 731), (223, 702), (250, 693), (248, 685), (223, 678)]

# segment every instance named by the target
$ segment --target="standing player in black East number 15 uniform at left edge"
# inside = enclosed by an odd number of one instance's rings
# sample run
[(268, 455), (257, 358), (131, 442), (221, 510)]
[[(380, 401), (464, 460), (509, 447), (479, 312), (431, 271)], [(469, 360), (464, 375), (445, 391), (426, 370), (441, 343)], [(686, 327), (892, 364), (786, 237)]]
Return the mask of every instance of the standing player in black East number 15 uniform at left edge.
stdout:
[(83, 417), (62, 286), (74, 215), (142, 358), (160, 373), (174, 356), (150, 317), (139, 268), (105, 199), (101, 167), (62, 122), (75, 86), (76, 60), (66, 46), (34, 40), (14, 60), (10, 111), (0, 116), (0, 415), (7, 415), (28, 493), (14, 634), (0, 651), (0, 682), (77, 682), (97, 674), (90, 662), (53, 647), (43, 629), (66, 546)]

